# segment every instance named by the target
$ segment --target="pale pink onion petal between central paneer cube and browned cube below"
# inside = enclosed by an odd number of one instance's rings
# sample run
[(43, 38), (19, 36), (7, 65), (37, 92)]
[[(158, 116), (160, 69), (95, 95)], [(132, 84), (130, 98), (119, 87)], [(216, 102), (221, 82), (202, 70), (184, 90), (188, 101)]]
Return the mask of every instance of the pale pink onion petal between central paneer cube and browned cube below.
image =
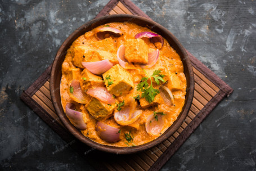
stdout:
[(115, 104), (113, 95), (107, 91), (106, 87), (95, 87), (88, 89), (87, 95), (97, 98), (98, 100), (105, 102), (106, 104)]

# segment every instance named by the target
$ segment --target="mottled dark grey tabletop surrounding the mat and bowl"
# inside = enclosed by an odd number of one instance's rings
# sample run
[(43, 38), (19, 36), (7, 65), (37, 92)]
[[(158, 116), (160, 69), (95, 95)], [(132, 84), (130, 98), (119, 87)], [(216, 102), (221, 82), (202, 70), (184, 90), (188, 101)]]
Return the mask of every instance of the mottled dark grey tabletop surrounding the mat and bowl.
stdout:
[[(19, 98), (108, 1), (0, 1), (0, 170), (94, 170)], [(134, 1), (234, 89), (162, 170), (256, 170), (256, 1)]]

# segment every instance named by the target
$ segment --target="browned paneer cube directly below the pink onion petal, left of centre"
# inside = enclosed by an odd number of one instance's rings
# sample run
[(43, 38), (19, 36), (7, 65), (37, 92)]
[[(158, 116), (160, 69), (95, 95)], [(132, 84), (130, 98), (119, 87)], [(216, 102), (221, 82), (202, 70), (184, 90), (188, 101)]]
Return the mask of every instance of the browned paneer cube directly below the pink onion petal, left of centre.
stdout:
[(105, 104), (104, 102), (97, 100), (97, 98), (92, 97), (92, 99), (86, 104), (86, 109), (93, 118), (104, 121), (113, 114), (113, 110), (116, 107), (115, 104)]

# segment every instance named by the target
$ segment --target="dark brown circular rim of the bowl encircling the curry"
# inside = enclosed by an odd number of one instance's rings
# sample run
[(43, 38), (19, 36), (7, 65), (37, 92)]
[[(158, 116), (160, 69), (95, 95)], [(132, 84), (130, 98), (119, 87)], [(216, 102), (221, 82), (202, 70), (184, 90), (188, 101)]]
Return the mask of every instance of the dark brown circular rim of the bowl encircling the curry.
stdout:
[[(187, 89), (186, 89), (186, 91), (187, 91), (186, 96), (188, 96), (187, 97), (187, 102), (186, 102), (186, 99), (185, 99), (185, 105), (183, 106), (181, 113), (179, 113), (179, 115), (177, 117), (177, 120), (174, 121), (174, 123), (172, 124), (174, 126), (171, 125), (161, 136), (159, 136), (155, 140), (152, 140), (152, 141), (147, 142), (143, 145), (134, 146), (134, 147), (116, 147), (116, 146), (102, 145), (102, 144), (100, 144), (98, 142), (95, 142), (95, 141), (92, 141), (88, 137), (84, 136), (82, 134), (82, 132), (80, 132), (79, 129), (75, 128), (74, 125), (70, 123), (69, 119), (66, 117), (66, 115), (64, 113), (64, 110), (62, 109), (62, 105), (58, 105), (58, 101), (61, 102), (61, 97), (57, 97), (55, 95), (56, 88), (55, 88), (55, 81), (54, 80), (56, 78), (56, 75), (58, 74), (57, 73), (57, 66), (59, 65), (59, 61), (61, 60), (61, 57), (63, 55), (65, 55), (65, 53), (66, 53), (65, 48), (70, 43), (70, 40), (73, 39), (75, 37), (75, 35), (77, 35), (77, 34), (79, 34), (79, 36), (84, 34), (83, 33), (84, 31), (82, 31), (82, 30), (86, 30), (87, 28), (90, 28), (90, 26), (92, 26), (95, 23), (98, 23), (98, 22), (104, 21), (104, 20), (115, 20), (117, 18), (119, 18), (119, 19), (128, 19), (129, 18), (129, 20), (131, 19), (131, 21), (132, 20), (144, 21), (144, 22), (147, 22), (148, 24), (158, 28), (163, 33), (168, 34), (168, 36), (173, 40), (173, 43), (176, 43), (176, 46), (180, 50), (182, 56), (184, 56), (183, 61), (187, 65), (188, 76), (189, 76), (189, 85), (190, 85), (190, 87), (189, 88), (187, 87)], [(110, 21), (110, 22), (118, 22), (118, 21)], [(109, 22), (104, 22), (104, 24), (106, 24), (106, 23), (109, 23)], [(102, 24), (100, 24), (100, 25), (102, 25)], [(99, 26), (99, 25), (97, 25), (97, 26)], [(93, 28), (95, 28), (95, 27), (93, 27)], [(90, 29), (90, 30), (92, 30), (92, 29)], [(77, 38), (75, 38), (75, 39), (77, 39)], [(73, 40), (73, 42), (74, 42), (74, 40)], [(176, 51), (177, 51), (177, 49), (176, 49)], [(181, 54), (179, 54), (179, 56), (181, 56)], [(64, 57), (64, 59), (65, 59), (65, 57)], [(184, 65), (184, 62), (183, 62), (183, 65)], [(61, 75), (62, 75), (62, 73), (61, 73)], [(60, 83), (58, 83), (58, 84), (59, 84), (59, 87), (60, 87)], [(187, 83), (187, 85), (188, 85), (188, 83)], [(60, 91), (60, 88), (58, 89), (58, 91)], [(164, 26), (161, 26), (160, 24), (158, 24), (157, 22), (155, 22), (151, 19), (147, 19), (147, 18), (141, 17), (141, 16), (127, 15), (127, 14), (109, 15), (109, 16), (99, 17), (97, 19), (93, 19), (91, 21), (86, 22), (86, 24), (83, 24), (78, 29), (76, 29), (73, 33), (71, 33), (69, 35), (69, 37), (66, 38), (66, 40), (61, 44), (61, 47), (59, 48), (59, 50), (56, 53), (55, 59), (53, 61), (52, 69), (51, 69), (50, 93), (51, 93), (51, 99), (52, 99), (53, 106), (55, 108), (56, 114), (59, 116), (61, 122), (65, 125), (65, 127), (68, 129), (68, 131), (71, 134), (73, 134), (73, 136), (78, 138), (78, 140), (80, 140), (83, 143), (85, 143), (86, 145), (91, 146), (92, 148), (100, 150), (100, 151), (110, 152), (110, 153), (114, 153), (114, 154), (132, 154), (132, 153), (147, 150), (147, 149), (150, 149), (154, 146), (159, 145), (160, 143), (167, 140), (167, 138), (172, 136), (172, 134), (175, 133), (177, 131), (177, 129), (181, 126), (181, 124), (184, 122), (188, 112), (190, 111), (190, 107), (191, 107), (192, 100), (193, 100), (193, 97), (194, 97), (194, 72), (192, 70), (192, 65), (191, 65), (190, 59), (187, 55), (187, 52), (186, 52), (185, 48), (183, 48), (181, 43), (179, 43), (178, 39), (169, 30), (164, 28)], [(58, 100), (58, 98), (59, 98), (59, 100)]]

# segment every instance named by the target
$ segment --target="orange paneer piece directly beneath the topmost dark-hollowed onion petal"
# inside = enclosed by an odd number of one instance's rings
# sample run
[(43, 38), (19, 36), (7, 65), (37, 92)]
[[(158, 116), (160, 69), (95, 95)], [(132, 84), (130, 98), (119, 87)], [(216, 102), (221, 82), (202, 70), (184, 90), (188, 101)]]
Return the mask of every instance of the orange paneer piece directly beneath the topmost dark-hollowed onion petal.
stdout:
[(97, 50), (109, 51), (109, 52), (115, 51), (113, 38), (111, 38), (111, 37), (103, 39), (103, 40), (99, 40), (97, 42), (92, 42), (91, 44)]

